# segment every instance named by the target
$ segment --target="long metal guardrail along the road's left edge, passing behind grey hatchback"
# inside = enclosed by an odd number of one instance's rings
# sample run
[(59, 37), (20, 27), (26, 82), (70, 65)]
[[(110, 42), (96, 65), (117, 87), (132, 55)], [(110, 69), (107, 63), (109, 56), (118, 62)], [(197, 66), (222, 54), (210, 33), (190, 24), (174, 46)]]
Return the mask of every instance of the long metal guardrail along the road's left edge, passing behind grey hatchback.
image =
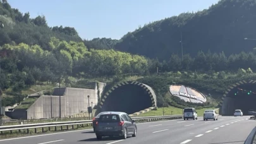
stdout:
[[(182, 119), (182, 118), (183, 118), (183, 115), (131, 117), (131, 119), (135, 121), (158, 121), (160, 119)], [(48, 128), (48, 130), (50, 131), (51, 127), (54, 127), (55, 128), (54, 130), (57, 131), (57, 126), (61, 126), (61, 130), (63, 130), (63, 126), (66, 126), (67, 129), (68, 129), (68, 126), (72, 126), (72, 129), (74, 129), (75, 125), (77, 126), (77, 128), (79, 128), (80, 125), (84, 127), (83, 124), (86, 124), (87, 126), (92, 126), (92, 120), (0, 126), (0, 132), (1, 134), (3, 134), (3, 131), (10, 131), (10, 133), (12, 133), (15, 130), (21, 131), (21, 129), (26, 129), (27, 130), (26, 133), (29, 133), (29, 129), (35, 129), (35, 133), (37, 133), (37, 128), (42, 128), (42, 132), (44, 132), (44, 128)]]

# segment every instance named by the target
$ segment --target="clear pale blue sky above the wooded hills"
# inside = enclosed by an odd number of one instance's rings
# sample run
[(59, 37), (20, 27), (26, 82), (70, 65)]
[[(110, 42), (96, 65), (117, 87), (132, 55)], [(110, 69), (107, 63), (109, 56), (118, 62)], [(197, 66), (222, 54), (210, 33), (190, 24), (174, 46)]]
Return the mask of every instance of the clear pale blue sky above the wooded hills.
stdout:
[(46, 16), (50, 27), (74, 27), (82, 39), (121, 39), (139, 25), (209, 8), (219, 0), (8, 0), (12, 8)]

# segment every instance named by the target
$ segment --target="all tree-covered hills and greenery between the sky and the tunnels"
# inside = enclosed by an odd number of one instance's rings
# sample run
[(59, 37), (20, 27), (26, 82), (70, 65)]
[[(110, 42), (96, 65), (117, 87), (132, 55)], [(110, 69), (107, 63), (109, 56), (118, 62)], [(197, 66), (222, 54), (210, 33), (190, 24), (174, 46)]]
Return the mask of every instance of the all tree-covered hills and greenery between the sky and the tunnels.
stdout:
[[(22, 14), (2, 0), (3, 104), (20, 103), (35, 92), (49, 94), (59, 82), (61, 87), (94, 88), (94, 81), (101, 81), (107, 82), (109, 90), (120, 81), (137, 80), (155, 90), (160, 107), (210, 107), (209, 102), (191, 104), (166, 92), (169, 85), (181, 84), (203, 92), (223, 93), (237, 81), (255, 79), (256, 49), (249, 52), (255, 45), (243, 40), (256, 37), (255, 4), (222, 0), (204, 11), (155, 21), (121, 40), (82, 40), (75, 28), (49, 27), (44, 16), (30, 18), (29, 13)], [(183, 59), (177, 49), (180, 32), (184, 36)], [(219, 95), (212, 97), (217, 105)], [(36, 99), (26, 100), (17, 108), (26, 109)]]

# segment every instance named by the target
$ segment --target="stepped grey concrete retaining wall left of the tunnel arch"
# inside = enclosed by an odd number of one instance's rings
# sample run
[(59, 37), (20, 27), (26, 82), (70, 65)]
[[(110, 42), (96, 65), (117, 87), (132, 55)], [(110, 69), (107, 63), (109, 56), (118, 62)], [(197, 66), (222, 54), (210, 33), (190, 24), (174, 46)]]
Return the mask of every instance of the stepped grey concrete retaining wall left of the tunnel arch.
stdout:
[[(15, 119), (51, 119), (59, 117), (59, 95), (61, 95), (61, 117), (69, 117), (88, 111), (101, 99), (106, 83), (95, 83), (95, 89), (55, 88), (52, 95), (42, 95), (28, 109), (15, 109), (8, 115)], [(87, 96), (90, 96), (89, 99)], [(88, 105), (89, 101), (89, 105)]]

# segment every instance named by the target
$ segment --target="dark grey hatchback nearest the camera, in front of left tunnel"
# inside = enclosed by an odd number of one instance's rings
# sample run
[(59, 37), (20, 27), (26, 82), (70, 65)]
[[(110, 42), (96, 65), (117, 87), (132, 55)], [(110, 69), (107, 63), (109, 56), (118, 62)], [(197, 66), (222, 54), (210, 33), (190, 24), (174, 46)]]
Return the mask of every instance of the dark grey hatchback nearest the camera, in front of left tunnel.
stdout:
[(137, 125), (125, 112), (106, 112), (96, 121), (95, 135), (97, 140), (102, 136), (120, 136), (126, 139), (128, 135), (137, 136)]

